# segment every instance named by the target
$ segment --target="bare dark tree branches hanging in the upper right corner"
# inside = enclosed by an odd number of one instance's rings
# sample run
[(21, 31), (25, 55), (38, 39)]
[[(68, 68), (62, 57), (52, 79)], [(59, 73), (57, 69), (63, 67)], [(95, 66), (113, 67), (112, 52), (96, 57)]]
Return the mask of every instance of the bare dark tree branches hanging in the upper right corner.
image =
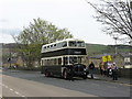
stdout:
[[(103, 32), (114, 36), (127, 35), (132, 40), (132, 1), (99, 0), (99, 4), (88, 2), (97, 12), (95, 16), (105, 26)], [(124, 37), (124, 36), (123, 36)]]

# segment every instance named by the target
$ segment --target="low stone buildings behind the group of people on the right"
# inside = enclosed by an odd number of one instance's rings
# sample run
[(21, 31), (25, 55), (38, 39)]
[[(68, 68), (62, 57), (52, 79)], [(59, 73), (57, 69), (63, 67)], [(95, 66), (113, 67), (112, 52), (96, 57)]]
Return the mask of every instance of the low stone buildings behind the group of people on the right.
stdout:
[(120, 54), (99, 54), (99, 55), (92, 55), (89, 57), (89, 63), (94, 62), (96, 67), (99, 67), (100, 62), (102, 62), (102, 57), (110, 55), (111, 61), (108, 62), (114, 62), (118, 67), (120, 68), (132, 68), (132, 53), (120, 53)]

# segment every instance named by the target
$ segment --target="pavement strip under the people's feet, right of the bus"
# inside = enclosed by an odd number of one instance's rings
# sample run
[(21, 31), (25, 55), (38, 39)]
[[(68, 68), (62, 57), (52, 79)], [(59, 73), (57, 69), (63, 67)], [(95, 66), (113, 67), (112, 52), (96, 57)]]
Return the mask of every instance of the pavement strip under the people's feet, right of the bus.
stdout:
[[(90, 79), (90, 75), (88, 75), (88, 79)], [(111, 82), (125, 84), (125, 85), (132, 86), (131, 78), (119, 77), (118, 80), (112, 80), (112, 77), (95, 74), (94, 79), (95, 80), (105, 80), (105, 81), (111, 81)]]

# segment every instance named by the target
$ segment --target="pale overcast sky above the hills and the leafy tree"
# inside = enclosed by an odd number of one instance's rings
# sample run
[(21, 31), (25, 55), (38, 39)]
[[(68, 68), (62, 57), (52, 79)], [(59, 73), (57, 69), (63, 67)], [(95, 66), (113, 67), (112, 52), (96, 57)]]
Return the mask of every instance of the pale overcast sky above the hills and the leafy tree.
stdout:
[(102, 25), (92, 18), (95, 14), (86, 0), (0, 0), (0, 43), (14, 42), (11, 34), (41, 18), (68, 29), (86, 43), (114, 44), (110, 35), (101, 32)]

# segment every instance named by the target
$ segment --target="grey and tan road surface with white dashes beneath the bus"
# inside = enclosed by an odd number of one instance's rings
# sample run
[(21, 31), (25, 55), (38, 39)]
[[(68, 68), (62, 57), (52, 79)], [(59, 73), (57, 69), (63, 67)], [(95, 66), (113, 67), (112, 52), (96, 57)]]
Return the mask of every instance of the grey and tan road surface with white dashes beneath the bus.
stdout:
[(40, 72), (2, 72), (3, 97), (130, 97), (130, 86), (103, 80), (46, 78)]

